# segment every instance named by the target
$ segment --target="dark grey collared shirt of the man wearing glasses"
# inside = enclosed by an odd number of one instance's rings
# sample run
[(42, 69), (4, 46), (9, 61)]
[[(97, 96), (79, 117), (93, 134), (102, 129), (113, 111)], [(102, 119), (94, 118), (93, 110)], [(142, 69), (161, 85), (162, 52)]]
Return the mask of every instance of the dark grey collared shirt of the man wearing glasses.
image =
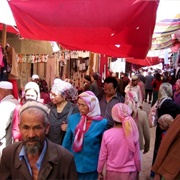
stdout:
[(114, 125), (114, 120), (111, 116), (112, 107), (119, 102), (120, 101), (119, 101), (117, 93), (109, 102), (106, 101), (106, 96), (104, 94), (99, 102), (100, 108), (101, 108), (101, 116), (103, 116), (104, 118), (108, 120), (108, 128)]

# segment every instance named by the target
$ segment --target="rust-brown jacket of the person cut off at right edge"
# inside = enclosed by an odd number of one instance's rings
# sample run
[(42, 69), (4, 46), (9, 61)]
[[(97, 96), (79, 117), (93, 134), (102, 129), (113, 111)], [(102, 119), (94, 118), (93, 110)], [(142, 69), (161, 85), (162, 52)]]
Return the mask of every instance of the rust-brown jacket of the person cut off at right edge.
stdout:
[(164, 136), (152, 170), (167, 180), (180, 179), (180, 115)]

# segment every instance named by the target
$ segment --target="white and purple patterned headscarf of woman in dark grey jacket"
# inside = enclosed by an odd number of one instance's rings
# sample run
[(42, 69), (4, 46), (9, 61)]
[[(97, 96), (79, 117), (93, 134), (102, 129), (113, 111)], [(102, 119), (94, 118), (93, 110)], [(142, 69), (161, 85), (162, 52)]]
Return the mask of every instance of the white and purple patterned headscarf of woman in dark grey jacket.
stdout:
[(51, 91), (56, 95), (61, 95), (66, 99), (75, 100), (77, 96), (77, 89), (72, 84), (61, 79), (55, 79)]

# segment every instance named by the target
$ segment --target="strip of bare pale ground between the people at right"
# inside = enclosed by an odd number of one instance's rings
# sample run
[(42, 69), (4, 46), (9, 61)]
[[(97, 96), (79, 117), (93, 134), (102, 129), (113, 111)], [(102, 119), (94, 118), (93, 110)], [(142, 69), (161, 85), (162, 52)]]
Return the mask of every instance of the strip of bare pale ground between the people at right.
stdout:
[[(150, 104), (143, 103), (143, 110), (149, 114), (150, 111)], [(140, 180), (147, 180), (149, 179), (151, 164), (152, 164), (152, 157), (153, 157), (153, 149), (154, 149), (154, 140), (155, 140), (155, 128), (150, 129), (151, 134), (151, 143), (150, 143), (150, 150), (148, 153), (143, 154), (142, 157), (142, 171), (140, 173)]]

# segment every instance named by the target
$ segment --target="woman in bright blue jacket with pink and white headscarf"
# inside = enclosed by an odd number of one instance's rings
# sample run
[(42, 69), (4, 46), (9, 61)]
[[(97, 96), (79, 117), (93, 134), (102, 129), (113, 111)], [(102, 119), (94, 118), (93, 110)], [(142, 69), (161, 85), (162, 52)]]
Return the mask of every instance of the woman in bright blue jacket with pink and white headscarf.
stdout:
[(73, 153), (79, 180), (97, 179), (97, 163), (108, 121), (100, 116), (99, 101), (91, 91), (78, 96), (80, 113), (68, 118), (63, 146)]

